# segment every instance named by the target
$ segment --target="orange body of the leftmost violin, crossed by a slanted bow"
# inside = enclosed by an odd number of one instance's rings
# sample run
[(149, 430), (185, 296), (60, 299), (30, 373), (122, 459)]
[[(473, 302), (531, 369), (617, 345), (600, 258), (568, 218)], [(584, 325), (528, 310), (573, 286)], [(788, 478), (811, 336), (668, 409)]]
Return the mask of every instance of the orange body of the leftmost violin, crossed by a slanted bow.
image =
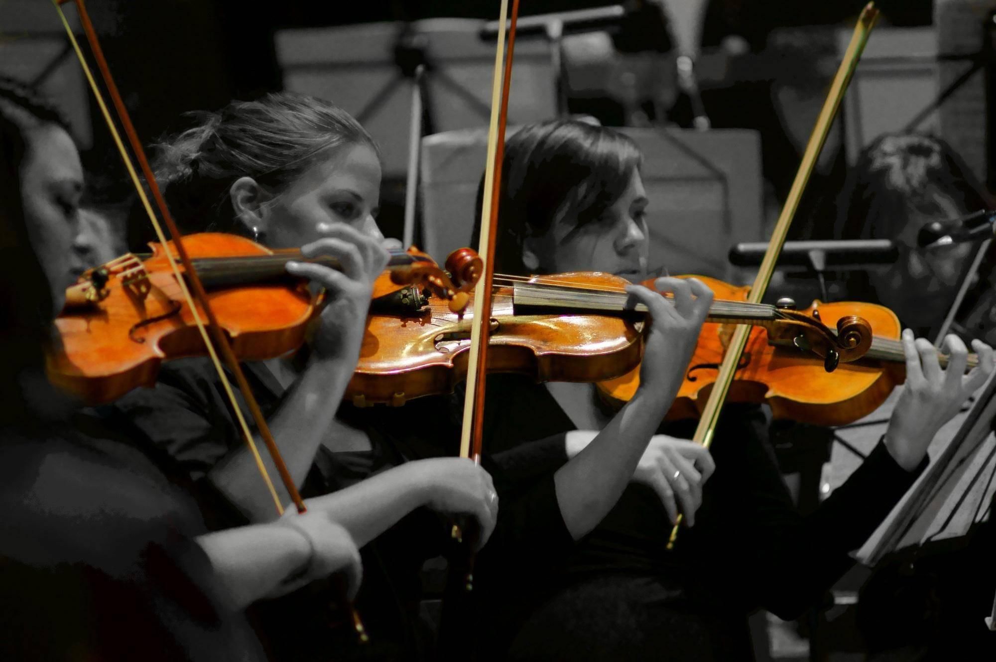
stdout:
[[(272, 254), (233, 234), (191, 234), (183, 243), (192, 259)], [(165, 251), (158, 243), (150, 246), (152, 256), (144, 261), (125, 256), (109, 263), (103, 299), (68, 307), (56, 319), (62, 345), (49, 354), (49, 378), (88, 403), (111, 402), (136, 387), (152, 386), (164, 360), (206, 354)], [(243, 361), (299, 347), (316, 304), (307, 281), (294, 278), (209, 289), (208, 300)], [(204, 320), (199, 304), (198, 313)]]

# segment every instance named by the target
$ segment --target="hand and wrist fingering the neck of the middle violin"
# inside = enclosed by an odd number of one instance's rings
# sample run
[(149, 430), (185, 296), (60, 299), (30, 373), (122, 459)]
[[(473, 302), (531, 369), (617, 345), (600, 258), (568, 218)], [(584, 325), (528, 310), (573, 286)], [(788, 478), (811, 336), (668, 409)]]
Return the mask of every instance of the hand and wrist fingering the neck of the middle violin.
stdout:
[(639, 285), (625, 288), (631, 298), (647, 307), (650, 315), (643, 339), (639, 388), (654, 394), (670, 393), (673, 398), (698, 344), (698, 334), (712, 305), (712, 290), (695, 278), (657, 278), (653, 284), (659, 292), (673, 293), (673, 303)]

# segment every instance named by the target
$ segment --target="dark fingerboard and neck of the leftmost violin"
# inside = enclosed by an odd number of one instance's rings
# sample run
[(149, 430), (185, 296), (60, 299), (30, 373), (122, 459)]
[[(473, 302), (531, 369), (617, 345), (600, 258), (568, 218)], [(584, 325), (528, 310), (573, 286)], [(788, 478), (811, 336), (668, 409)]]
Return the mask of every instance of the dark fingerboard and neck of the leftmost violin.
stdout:
[[(408, 266), (425, 259), (403, 250), (392, 250), (387, 267)], [(287, 272), (287, 263), (292, 261), (321, 264), (337, 271), (343, 270), (343, 264), (337, 257), (327, 255), (304, 257), (297, 249), (276, 250), (271, 255), (201, 257), (193, 260), (193, 266), (206, 289), (219, 289), (293, 278), (294, 276)]]

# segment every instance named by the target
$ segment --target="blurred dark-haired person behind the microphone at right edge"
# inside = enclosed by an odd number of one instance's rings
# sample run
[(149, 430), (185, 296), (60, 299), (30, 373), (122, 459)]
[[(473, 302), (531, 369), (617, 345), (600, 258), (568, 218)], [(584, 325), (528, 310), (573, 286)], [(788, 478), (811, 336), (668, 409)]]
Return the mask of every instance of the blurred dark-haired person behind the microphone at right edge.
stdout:
[[(849, 297), (877, 301), (904, 323), (933, 337), (979, 242), (922, 248), (921, 227), (993, 208), (993, 200), (944, 141), (889, 134), (865, 149), (841, 196), (840, 238), (885, 238), (900, 258), (887, 268), (849, 279)], [(993, 251), (953, 318), (963, 338), (996, 338)], [(857, 618), (870, 660), (991, 659), (996, 633), (982, 620), (992, 610), (996, 526), (980, 522), (947, 545), (925, 545), (915, 562), (902, 553), (874, 568), (863, 585)]]

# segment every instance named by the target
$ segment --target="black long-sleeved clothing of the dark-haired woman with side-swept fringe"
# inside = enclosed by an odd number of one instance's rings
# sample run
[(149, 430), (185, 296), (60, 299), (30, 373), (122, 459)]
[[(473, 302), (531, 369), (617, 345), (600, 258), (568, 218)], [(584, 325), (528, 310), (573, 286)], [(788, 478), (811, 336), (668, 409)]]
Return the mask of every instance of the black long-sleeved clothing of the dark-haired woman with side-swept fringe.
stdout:
[[(489, 448), (575, 428), (542, 386), (493, 380)], [(693, 429), (683, 422), (660, 432), (689, 438)], [(675, 660), (750, 659), (746, 614), (764, 607), (792, 618), (813, 603), (923, 469), (903, 471), (879, 446), (804, 518), (764, 440), (760, 410), (728, 406), (712, 454), (716, 473), (696, 525), (681, 531), (671, 552), (664, 508), (641, 484), (630, 484), (576, 545), (537, 549), (516, 565), (491, 554), (499, 550), (489, 544), (478, 572), (480, 603), (500, 607), (483, 617), (499, 642), (486, 653), (500, 659), (510, 645), (509, 659), (523, 660), (642, 659), (659, 650)]]

